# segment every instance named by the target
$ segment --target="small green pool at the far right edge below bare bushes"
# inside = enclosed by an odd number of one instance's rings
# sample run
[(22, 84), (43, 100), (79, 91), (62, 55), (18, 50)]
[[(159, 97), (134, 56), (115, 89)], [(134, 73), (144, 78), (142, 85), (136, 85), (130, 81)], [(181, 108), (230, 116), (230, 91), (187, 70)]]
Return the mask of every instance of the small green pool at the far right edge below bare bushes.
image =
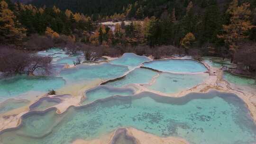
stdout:
[(224, 72), (223, 77), (224, 77), (224, 80), (230, 83), (234, 83), (238, 85), (255, 85), (256, 86), (256, 79), (238, 76), (226, 71)]

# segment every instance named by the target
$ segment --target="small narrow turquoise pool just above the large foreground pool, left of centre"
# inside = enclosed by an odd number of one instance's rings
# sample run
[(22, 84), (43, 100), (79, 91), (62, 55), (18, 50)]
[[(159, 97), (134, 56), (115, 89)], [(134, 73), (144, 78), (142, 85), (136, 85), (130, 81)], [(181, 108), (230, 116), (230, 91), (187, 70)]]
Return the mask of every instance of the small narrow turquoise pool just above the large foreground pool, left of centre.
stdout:
[(85, 92), (86, 99), (82, 102), (82, 104), (88, 104), (97, 99), (104, 99), (112, 96), (128, 96), (134, 94), (132, 89), (128, 88), (110, 88), (105, 86), (100, 86), (92, 90), (88, 90)]

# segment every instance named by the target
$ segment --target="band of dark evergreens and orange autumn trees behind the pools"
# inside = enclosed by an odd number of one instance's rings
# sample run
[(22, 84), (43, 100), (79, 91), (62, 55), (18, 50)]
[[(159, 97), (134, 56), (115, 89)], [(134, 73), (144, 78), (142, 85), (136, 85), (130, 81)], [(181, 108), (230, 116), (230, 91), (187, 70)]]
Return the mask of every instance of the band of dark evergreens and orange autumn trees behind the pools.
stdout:
[[(133, 52), (153, 55), (155, 59), (173, 54), (213, 55), (246, 63), (250, 71), (256, 71), (256, 65), (252, 65), (255, 59), (242, 58), (242, 55), (256, 56), (256, 0), (38, 0), (32, 3), (37, 7), (0, 0), (1, 44), (35, 50), (64, 43), (74, 48), (72, 53), (75, 53), (82, 43), (96, 46), (90, 48), (93, 54), (104, 47), (102, 54)], [(114, 18), (133, 22), (117, 23), (114, 31), (100, 23)]]

